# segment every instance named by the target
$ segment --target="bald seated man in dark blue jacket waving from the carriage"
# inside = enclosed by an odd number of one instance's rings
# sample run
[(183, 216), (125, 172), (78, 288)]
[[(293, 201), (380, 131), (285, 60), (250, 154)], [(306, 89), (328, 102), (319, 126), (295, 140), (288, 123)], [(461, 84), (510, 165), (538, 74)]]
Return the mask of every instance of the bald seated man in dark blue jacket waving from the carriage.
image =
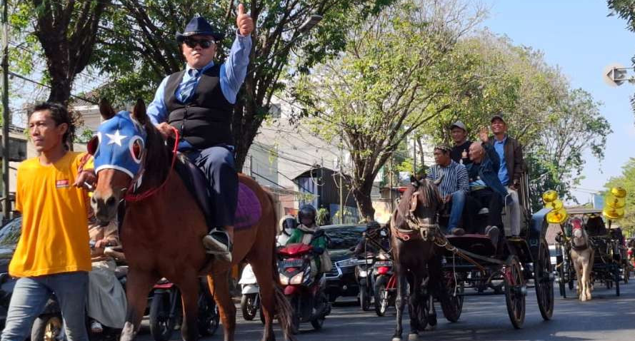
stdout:
[[(503, 225), (503, 203), (505, 198), (509, 198), (498, 177), (499, 156), (491, 145), (474, 142), (469, 147), (469, 158), (472, 162), (466, 166), (470, 189), (466, 199), (466, 216), (469, 217), (466, 232), (489, 235), (491, 243), (497, 245)], [(476, 226), (476, 215), (481, 208), (489, 210), (484, 230)]]

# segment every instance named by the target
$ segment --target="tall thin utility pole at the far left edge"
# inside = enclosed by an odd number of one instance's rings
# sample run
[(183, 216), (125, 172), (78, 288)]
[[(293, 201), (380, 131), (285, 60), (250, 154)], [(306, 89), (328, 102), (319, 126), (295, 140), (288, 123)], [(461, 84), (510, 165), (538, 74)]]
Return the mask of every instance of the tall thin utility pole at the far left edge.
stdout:
[(9, 219), (9, 0), (2, 0), (2, 184), (4, 219)]

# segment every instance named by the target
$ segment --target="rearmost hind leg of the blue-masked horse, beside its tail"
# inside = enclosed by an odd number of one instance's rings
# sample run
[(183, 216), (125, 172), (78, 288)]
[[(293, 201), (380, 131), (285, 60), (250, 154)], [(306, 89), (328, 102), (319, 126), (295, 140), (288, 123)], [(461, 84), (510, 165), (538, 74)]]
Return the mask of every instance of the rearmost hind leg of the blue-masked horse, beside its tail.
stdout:
[(252, 257), (248, 256), (248, 259), (260, 287), (260, 308), (262, 309), (262, 313), (264, 315), (264, 332), (262, 335), (262, 341), (274, 341), (276, 340), (273, 323), (276, 307), (276, 293), (274, 292), (274, 280), (272, 280), (274, 278), (274, 269), (271, 265), (273, 263), (273, 260), (271, 259), (273, 255), (271, 254), (271, 250), (266, 252), (266, 254), (268, 254), (269, 257), (266, 255), (252, 255)]

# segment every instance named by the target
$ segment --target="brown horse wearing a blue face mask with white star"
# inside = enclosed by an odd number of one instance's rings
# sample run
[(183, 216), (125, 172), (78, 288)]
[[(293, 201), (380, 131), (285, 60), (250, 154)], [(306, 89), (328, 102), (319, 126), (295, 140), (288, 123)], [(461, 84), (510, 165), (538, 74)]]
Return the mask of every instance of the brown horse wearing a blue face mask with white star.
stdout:
[[(229, 295), (229, 272), (233, 265), (243, 260), (251, 264), (260, 285), (265, 320), (262, 340), (275, 340), (272, 325), (274, 310), (277, 310), (285, 337), (293, 339), (289, 329), (291, 307), (276, 285), (278, 274), (274, 252), (277, 221), (271, 195), (256, 181), (239, 175), (240, 183), (255, 194), (261, 217), (246, 228), (236, 228), (233, 263), (213, 260), (206, 255), (201, 243), (201, 238), (208, 231), (204, 213), (173, 169), (171, 148), (166, 147), (164, 138), (146, 116), (143, 101), (136, 103), (131, 115), (126, 112), (115, 114), (107, 103), (101, 103), (100, 111), (105, 121), (99, 128), (99, 141), (96, 142), (99, 147), (94, 148), (98, 180), (91, 205), (99, 220), (109, 221), (116, 218), (118, 203), (126, 200), (120, 235), (129, 263), (126, 292), (129, 304), (121, 340), (134, 338), (144, 315), (149, 290), (163, 277), (181, 290), (183, 339), (196, 340), (199, 337), (196, 323), (197, 278), (207, 275), (209, 290), (219, 306), (224, 340), (233, 341), (236, 308)], [(124, 146), (120, 155), (108, 155), (116, 153), (116, 145)], [(125, 160), (131, 156), (132, 161)], [(104, 159), (113, 164), (104, 166), (101, 164)], [(125, 168), (135, 164), (139, 169), (134, 172)], [(176, 161), (176, 167), (184, 166)], [(142, 195), (145, 197), (142, 199), (127, 200), (131, 197), (126, 193), (131, 195), (132, 192), (146, 195)], [(150, 193), (154, 194), (148, 195)]]

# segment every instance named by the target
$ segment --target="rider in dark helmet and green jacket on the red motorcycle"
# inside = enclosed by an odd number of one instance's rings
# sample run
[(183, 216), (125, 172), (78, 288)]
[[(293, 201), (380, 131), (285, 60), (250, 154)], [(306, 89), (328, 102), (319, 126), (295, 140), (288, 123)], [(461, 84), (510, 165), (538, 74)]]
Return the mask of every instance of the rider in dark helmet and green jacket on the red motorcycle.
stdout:
[(321, 278), (321, 274), (323, 273), (321, 258), (324, 253), (328, 253), (324, 234), (318, 238), (314, 238), (314, 234), (319, 231), (319, 227), (315, 223), (316, 215), (317, 212), (312, 205), (302, 205), (298, 212), (300, 225), (291, 233), (289, 240), (286, 241), (286, 245), (303, 243), (313, 247), (313, 253), (316, 256), (311, 260), (311, 278), (314, 280)]

